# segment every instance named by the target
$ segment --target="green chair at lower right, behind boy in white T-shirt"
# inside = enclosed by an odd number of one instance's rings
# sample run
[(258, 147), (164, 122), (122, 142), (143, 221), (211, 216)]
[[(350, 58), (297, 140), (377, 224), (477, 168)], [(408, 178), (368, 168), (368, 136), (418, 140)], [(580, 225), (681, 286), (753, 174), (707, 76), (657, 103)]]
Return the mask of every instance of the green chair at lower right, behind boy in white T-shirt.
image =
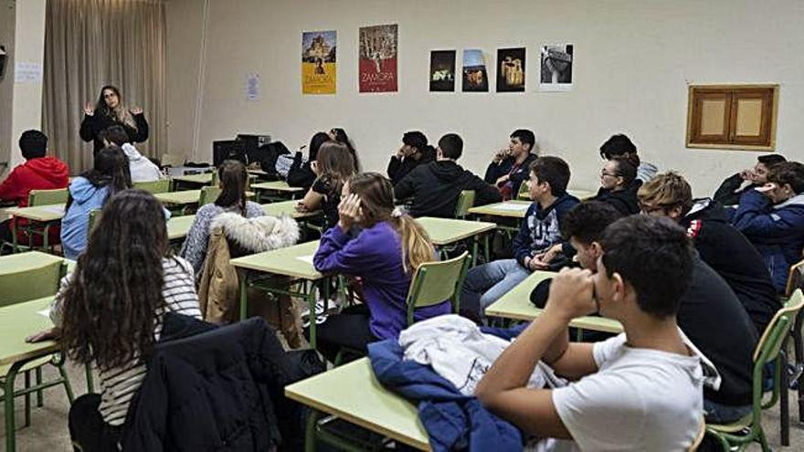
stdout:
[[(706, 434), (714, 436), (724, 450), (733, 450), (734, 448), (742, 450), (753, 442), (759, 443), (763, 451), (771, 450), (767, 445), (765, 432), (762, 429), (762, 410), (776, 405), (779, 393), (788, 390), (787, 388), (782, 388), (780, 384), (781, 373), (787, 372), (787, 370), (782, 368), (782, 362), (785, 360), (778, 359), (779, 352), (786, 342), (790, 329), (802, 307), (804, 307), (804, 293), (801, 292), (801, 289), (798, 289), (785, 303), (785, 306), (778, 310), (756, 345), (753, 370), (753, 409), (751, 413), (730, 424), (706, 425)], [(763, 369), (767, 363), (775, 364), (774, 384), (770, 399), (763, 404)]]

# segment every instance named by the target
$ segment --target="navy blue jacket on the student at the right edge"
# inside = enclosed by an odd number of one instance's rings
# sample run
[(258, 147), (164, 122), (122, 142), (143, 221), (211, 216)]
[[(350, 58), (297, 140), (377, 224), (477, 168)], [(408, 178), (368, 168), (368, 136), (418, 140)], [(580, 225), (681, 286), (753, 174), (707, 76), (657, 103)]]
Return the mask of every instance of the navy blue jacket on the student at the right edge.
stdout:
[(732, 223), (765, 258), (776, 289), (784, 291), (790, 266), (801, 259), (804, 247), (804, 194), (772, 205), (764, 194), (746, 190)]

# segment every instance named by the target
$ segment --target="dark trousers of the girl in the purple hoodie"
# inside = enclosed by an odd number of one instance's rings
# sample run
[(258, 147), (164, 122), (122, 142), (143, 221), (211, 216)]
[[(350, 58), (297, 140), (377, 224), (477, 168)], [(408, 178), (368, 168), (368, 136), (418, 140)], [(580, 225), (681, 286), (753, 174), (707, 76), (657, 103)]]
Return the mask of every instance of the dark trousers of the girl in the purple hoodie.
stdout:
[[(357, 304), (328, 317), (316, 327), (318, 351), (331, 363), (335, 362), (341, 347), (368, 352), (366, 345), (377, 341), (368, 328), (369, 315), (365, 304)], [(309, 332), (304, 332), (309, 337)]]

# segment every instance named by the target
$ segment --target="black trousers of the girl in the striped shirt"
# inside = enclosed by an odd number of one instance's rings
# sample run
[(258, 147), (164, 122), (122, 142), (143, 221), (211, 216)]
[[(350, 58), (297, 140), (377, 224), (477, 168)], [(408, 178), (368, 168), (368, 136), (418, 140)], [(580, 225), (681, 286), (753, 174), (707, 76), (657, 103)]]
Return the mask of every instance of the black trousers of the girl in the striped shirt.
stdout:
[[(82, 452), (107, 452), (120, 450), (120, 426), (110, 426), (100, 416), (100, 394), (84, 394), (73, 401), (69, 408), (69, 437), (76, 450)], [(80, 448), (79, 448), (80, 447)]]

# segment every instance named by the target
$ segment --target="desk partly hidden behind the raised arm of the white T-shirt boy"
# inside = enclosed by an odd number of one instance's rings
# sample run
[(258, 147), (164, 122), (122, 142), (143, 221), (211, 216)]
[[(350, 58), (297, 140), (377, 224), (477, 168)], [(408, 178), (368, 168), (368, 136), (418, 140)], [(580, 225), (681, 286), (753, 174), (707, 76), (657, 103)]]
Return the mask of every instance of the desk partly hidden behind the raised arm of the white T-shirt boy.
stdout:
[[(555, 278), (556, 273), (551, 271), (534, 271), (534, 273), (524, 279), (519, 285), (511, 289), (500, 298), (494, 301), (485, 310), (486, 316), (512, 319), (515, 321), (533, 321), (542, 314), (542, 310), (536, 308), (531, 303), (531, 292), (545, 279)], [(619, 321), (606, 319), (605, 317), (584, 316), (578, 317), (569, 322), (569, 326), (577, 328), (577, 336), (581, 337), (583, 330), (605, 331), (619, 333), (622, 332), (622, 325)]]

